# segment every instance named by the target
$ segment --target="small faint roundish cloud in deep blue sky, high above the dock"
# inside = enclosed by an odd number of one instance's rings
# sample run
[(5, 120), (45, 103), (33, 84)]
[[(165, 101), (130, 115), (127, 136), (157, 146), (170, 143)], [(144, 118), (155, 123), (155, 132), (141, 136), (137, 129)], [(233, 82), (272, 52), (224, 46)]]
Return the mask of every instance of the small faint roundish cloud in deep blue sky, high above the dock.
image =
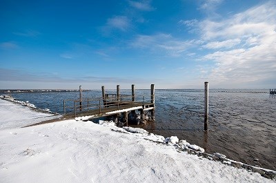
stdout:
[(130, 20), (126, 16), (115, 16), (107, 20), (106, 26), (126, 31), (130, 27)]

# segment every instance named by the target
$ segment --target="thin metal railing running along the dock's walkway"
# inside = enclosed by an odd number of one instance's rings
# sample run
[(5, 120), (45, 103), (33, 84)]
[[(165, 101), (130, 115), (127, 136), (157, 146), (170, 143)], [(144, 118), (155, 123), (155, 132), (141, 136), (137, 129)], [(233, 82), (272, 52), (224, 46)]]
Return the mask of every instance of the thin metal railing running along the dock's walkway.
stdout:
[(106, 94), (105, 97), (99, 98), (87, 98), (87, 99), (64, 99), (63, 100), (63, 114), (75, 114), (89, 112), (90, 110), (97, 110), (97, 113), (101, 114), (104, 108), (117, 107), (119, 110), (120, 106), (126, 104), (135, 105), (137, 103), (153, 104), (152, 97), (144, 97), (144, 95), (117, 95), (117, 94)]

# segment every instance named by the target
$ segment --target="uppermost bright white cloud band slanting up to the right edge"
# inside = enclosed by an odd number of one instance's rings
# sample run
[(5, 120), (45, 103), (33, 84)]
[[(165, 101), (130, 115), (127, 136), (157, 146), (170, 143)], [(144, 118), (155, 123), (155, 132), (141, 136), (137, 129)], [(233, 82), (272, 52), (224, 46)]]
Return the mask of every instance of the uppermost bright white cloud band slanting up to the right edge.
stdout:
[(252, 37), (266, 32), (275, 31), (276, 6), (275, 3), (265, 3), (262, 6), (250, 8), (230, 19), (211, 21), (209, 19), (199, 23), (202, 39), (237, 37)]

